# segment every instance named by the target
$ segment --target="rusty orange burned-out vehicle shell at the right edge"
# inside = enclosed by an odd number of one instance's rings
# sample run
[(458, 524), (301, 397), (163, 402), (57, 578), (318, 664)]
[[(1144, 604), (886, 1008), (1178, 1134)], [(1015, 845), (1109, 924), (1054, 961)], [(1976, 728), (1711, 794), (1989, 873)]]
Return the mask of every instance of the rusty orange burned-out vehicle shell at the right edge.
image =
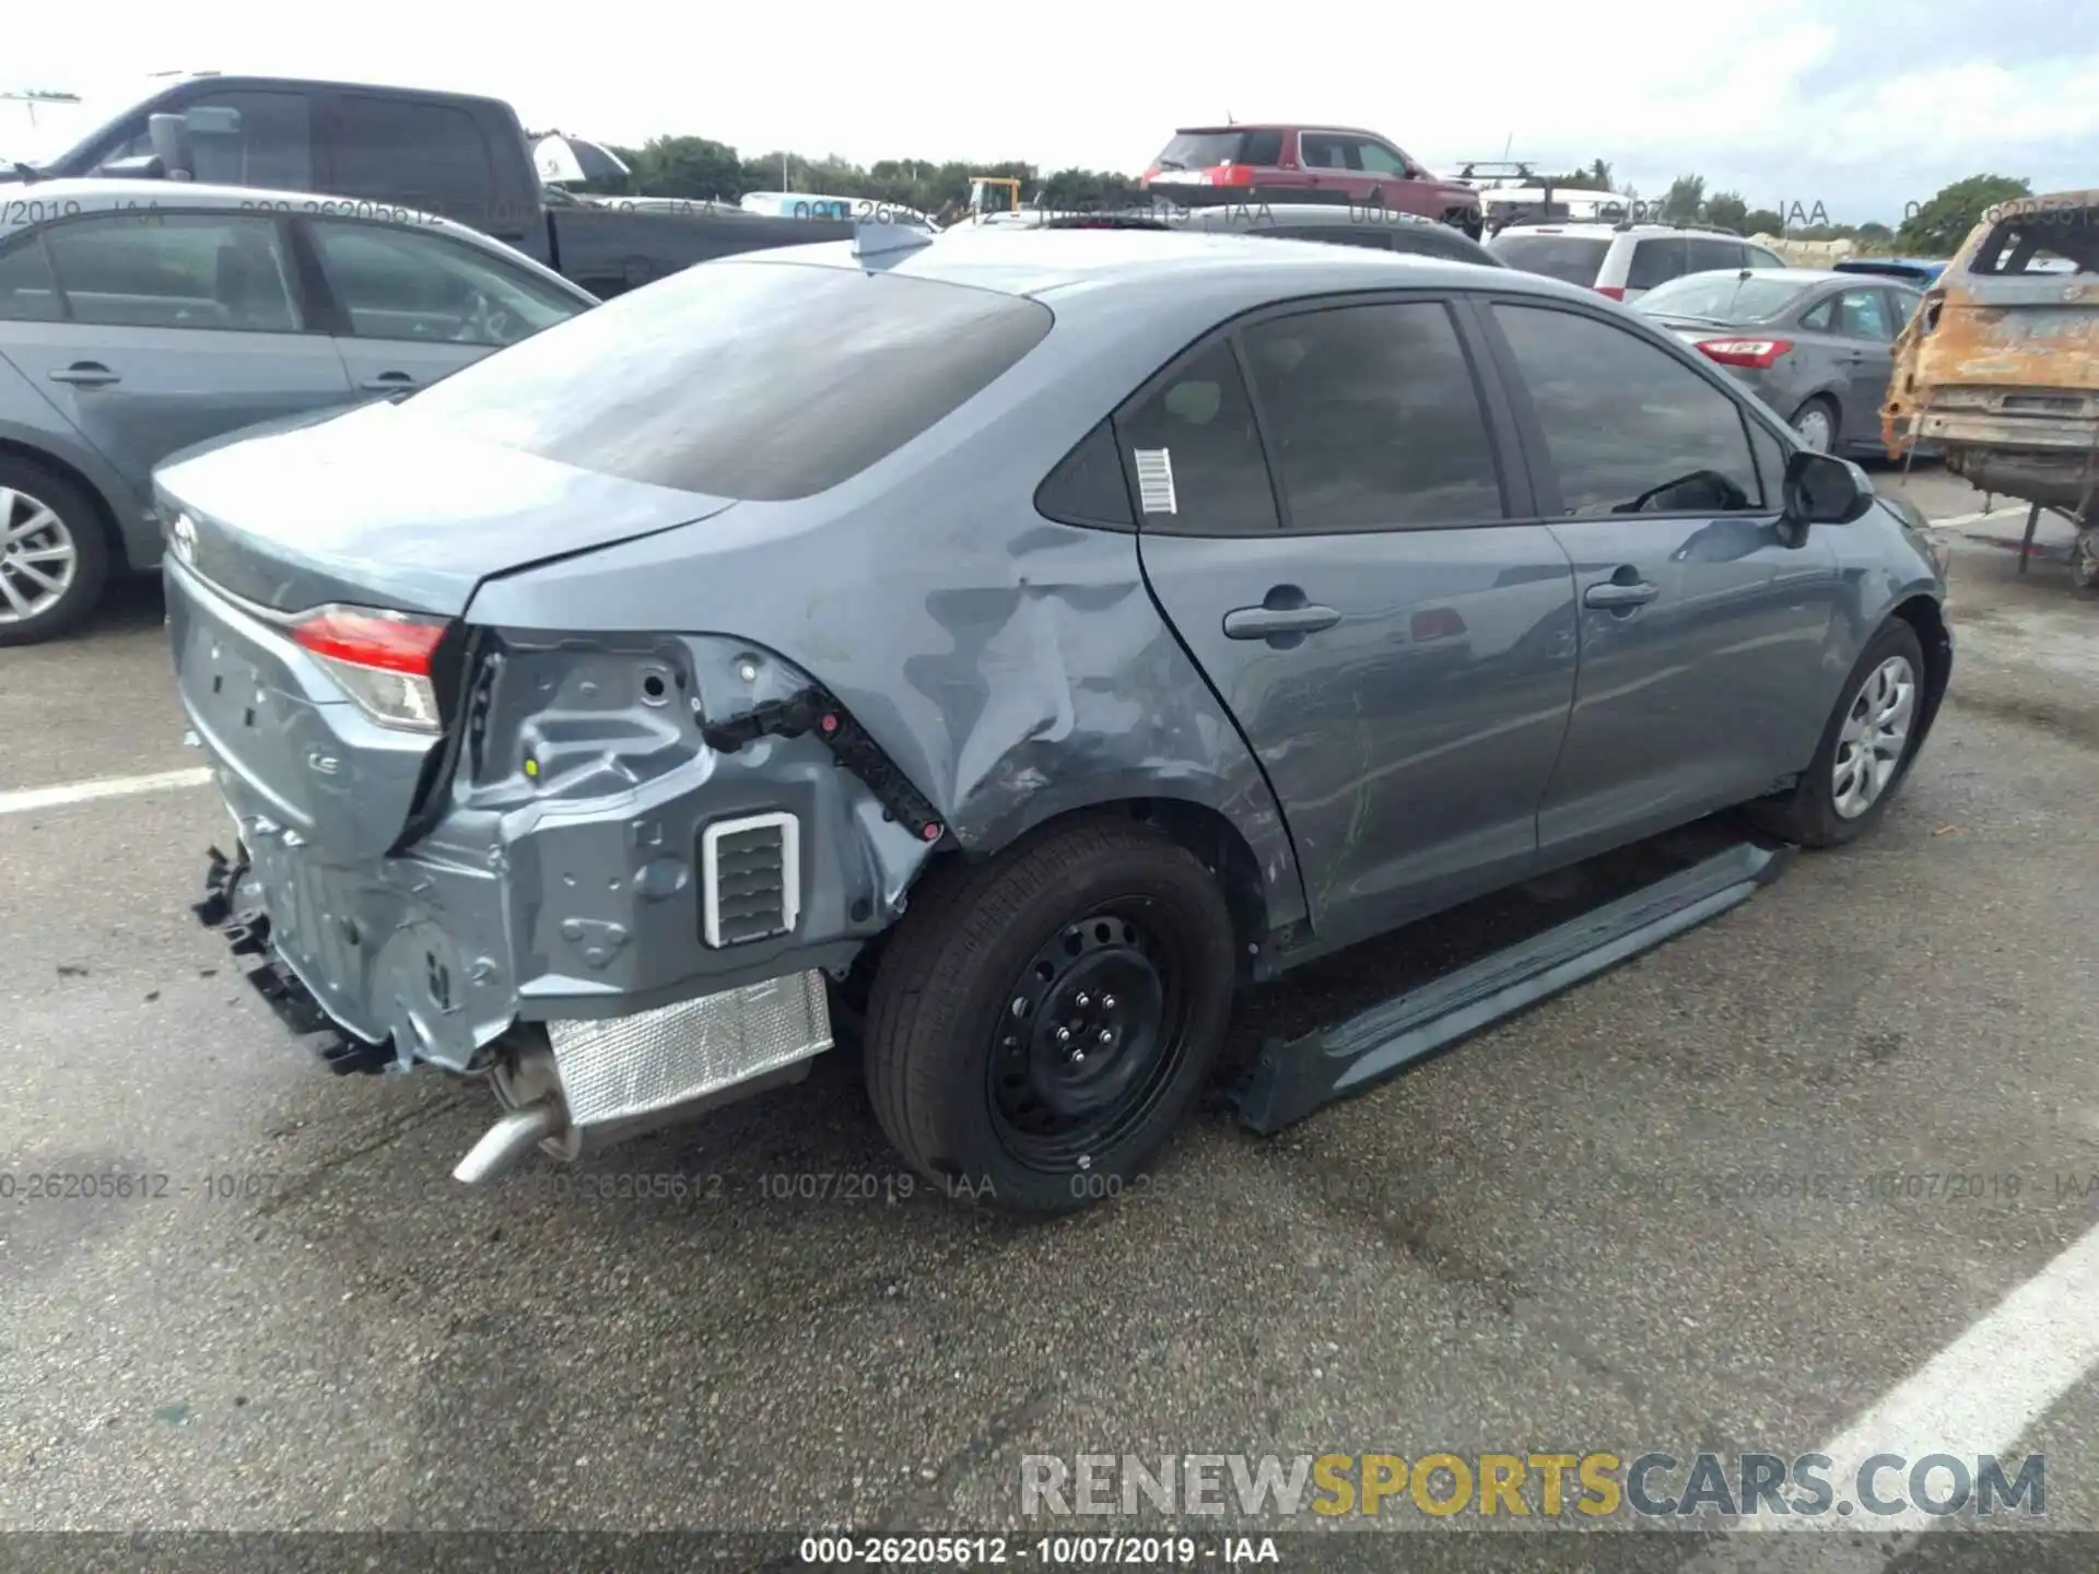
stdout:
[(1889, 451), (1944, 445), (1948, 470), (1984, 491), (2089, 516), (2099, 191), (2000, 204), (1969, 231), (1895, 340), (1881, 422)]

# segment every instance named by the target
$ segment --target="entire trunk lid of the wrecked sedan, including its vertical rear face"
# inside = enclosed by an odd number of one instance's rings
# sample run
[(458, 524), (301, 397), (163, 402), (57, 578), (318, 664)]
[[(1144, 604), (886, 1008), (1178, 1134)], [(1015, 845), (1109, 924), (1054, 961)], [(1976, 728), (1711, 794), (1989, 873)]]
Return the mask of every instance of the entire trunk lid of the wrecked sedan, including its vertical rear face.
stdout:
[[(241, 837), (269, 837), (323, 884), (369, 879), (401, 842), (458, 726), (464, 674), (437, 674), (443, 730), (382, 724), (294, 640), (298, 613), (458, 619), (491, 577), (730, 506), (407, 422), (386, 403), (191, 449), (155, 472), (155, 497), (172, 525), (168, 632), (189, 724)], [(458, 663), (466, 636), (453, 625), (441, 657)]]

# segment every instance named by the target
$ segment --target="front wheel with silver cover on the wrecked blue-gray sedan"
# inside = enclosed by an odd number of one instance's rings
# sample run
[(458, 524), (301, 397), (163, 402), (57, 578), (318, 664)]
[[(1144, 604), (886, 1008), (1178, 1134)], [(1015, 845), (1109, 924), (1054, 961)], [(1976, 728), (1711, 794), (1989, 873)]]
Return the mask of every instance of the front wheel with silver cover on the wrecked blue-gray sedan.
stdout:
[[(1900, 617), (1874, 634), (1843, 682), (1814, 764), (1784, 797), (1748, 806), (1751, 823), (1803, 848), (1866, 835), (1902, 789), (1923, 741), (1925, 646)], [(1900, 718), (1891, 711), (1900, 709)], [(1893, 722), (1900, 720), (1900, 741)], [(1872, 758), (1864, 753), (1870, 749)]]

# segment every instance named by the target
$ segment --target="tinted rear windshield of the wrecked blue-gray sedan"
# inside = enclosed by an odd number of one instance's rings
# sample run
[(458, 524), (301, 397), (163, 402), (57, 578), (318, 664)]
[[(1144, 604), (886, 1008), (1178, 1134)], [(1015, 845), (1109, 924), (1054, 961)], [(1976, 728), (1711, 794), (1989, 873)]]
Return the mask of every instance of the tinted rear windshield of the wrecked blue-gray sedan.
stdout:
[(716, 497), (858, 474), (1050, 332), (991, 290), (806, 262), (705, 262), (403, 401), (491, 443)]

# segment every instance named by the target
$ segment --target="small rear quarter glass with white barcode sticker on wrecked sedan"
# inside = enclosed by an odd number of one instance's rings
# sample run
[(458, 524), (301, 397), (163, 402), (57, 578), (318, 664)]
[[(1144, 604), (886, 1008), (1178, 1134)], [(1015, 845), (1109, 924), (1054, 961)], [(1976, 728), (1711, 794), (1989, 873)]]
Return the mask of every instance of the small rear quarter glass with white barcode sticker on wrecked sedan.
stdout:
[(1211, 340), (1115, 420), (1140, 525), (1175, 535), (1276, 529), (1253, 403), (1230, 340)]

